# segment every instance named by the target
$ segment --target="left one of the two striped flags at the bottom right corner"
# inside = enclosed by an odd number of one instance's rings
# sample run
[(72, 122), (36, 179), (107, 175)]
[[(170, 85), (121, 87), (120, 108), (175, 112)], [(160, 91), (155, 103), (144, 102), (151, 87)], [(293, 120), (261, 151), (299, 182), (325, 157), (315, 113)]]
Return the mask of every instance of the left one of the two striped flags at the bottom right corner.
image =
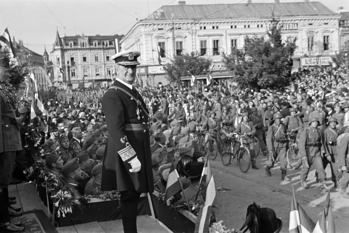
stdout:
[(296, 195), (293, 189), (293, 197), (291, 203), (289, 233), (312, 233), (315, 228), (315, 223), (297, 203)]

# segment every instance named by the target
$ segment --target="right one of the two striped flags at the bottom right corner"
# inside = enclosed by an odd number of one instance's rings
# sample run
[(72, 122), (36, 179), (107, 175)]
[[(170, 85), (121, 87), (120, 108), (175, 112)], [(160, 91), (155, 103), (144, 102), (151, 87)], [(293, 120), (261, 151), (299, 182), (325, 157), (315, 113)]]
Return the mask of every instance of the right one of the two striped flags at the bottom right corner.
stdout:
[(330, 191), (327, 193), (325, 207), (313, 233), (335, 233), (334, 216), (330, 206)]

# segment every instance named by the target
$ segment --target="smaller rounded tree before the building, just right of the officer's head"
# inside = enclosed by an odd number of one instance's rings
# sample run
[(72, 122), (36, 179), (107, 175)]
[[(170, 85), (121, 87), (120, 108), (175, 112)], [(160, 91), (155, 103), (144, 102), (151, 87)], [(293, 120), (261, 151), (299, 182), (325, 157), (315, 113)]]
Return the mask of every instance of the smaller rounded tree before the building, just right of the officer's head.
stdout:
[(210, 59), (200, 57), (199, 53), (192, 52), (174, 57), (171, 63), (164, 66), (164, 70), (167, 74), (166, 79), (170, 83), (175, 83), (179, 82), (180, 77), (183, 76), (206, 74), (210, 65)]

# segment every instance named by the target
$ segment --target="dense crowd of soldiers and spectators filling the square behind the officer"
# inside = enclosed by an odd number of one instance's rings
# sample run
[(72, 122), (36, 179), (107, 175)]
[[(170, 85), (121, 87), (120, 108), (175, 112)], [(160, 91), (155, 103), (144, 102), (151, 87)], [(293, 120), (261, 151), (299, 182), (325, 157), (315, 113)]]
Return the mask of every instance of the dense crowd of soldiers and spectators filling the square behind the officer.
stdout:
[[(214, 84), (199, 92), (188, 90), (186, 84), (176, 87), (161, 83), (139, 88), (153, 118), (150, 136), (155, 184), (165, 187), (169, 158), (204, 157), (194, 137), (202, 130), (207, 132), (206, 140), (211, 133), (218, 135), (219, 145), (224, 132), (245, 135), (243, 143), (250, 150), (252, 169), (258, 169), (253, 143), (256, 137), (261, 153), (269, 157), (267, 176), (272, 175), (270, 169), (278, 158), (285, 181), (290, 181), (286, 175), (289, 138), (297, 138), (301, 186), (308, 188), (307, 176), (314, 166), (321, 188), (328, 190), (325, 168), (329, 165), (334, 185), (348, 198), (349, 136), (336, 144), (339, 135), (349, 132), (349, 90), (342, 70), (312, 68), (292, 75), (294, 81), (284, 90), (254, 91)], [(43, 124), (39, 133), (47, 135), (41, 145), (47, 167), (62, 188), (71, 188), (76, 197), (104, 193), (100, 187), (108, 131), (100, 103), (106, 90), (73, 90), (69, 104), (60, 95), (63, 91), (55, 96), (52, 91), (50, 99), (43, 101), (46, 114), (34, 120)], [(29, 102), (20, 104), (20, 114), (29, 123)]]

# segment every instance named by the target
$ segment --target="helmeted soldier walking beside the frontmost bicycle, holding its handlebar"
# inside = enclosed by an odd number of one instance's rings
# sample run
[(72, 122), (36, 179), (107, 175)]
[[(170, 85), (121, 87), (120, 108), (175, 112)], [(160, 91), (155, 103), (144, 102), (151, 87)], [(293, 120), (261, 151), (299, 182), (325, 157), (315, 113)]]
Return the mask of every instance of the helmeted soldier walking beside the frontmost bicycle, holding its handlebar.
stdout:
[(242, 138), (242, 143), (250, 151), (252, 169), (258, 169), (258, 167), (256, 166), (256, 156), (254, 152), (254, 143), (253, 143), (254, 142), (253, 136), (256, 133), (256, 128), (253, 126), (253, 123), (250, 121), (250, 117), (247, 112), (243, 112), (241, 117), (242, 117), (242, 122), (238, 124), (234, 133), (240, 134), (241, 136), (245, 135)]

